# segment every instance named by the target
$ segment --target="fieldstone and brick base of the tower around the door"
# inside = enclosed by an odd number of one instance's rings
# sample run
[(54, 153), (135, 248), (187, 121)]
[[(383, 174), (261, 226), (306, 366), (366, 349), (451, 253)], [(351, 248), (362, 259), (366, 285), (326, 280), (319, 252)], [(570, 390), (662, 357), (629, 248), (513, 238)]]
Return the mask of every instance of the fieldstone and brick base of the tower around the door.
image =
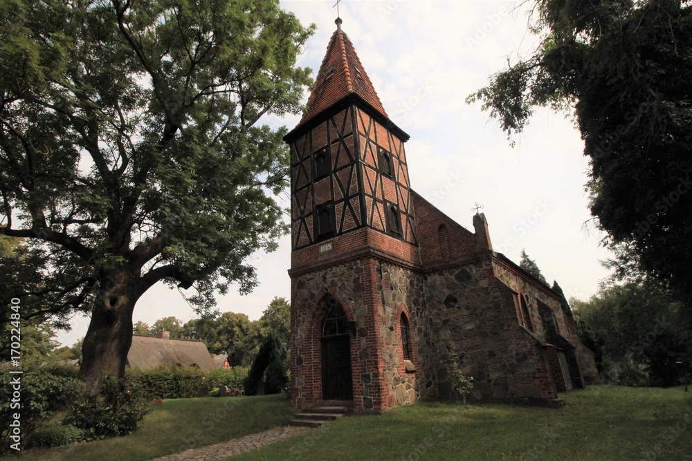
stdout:
[[(319, 301), (325, 294), (336, 298), (349, 321), (355, 323), (355, 334), (351, 336), (354, 411), (383, 411), (417, 400), (415, 373), (407, 375), (403, 370), (400, 330), (395, 326), (399, 322), (394, 323), (401, 310), (392, 301), (383, 305), (383, 299), (401, 298), (402, 284), (399, 279), (392, 283), (389, 276), (387, 281), (381, 276), (381, 263), (368, 257), (292, 277), (291, 360), (295, 366), (291, 375), (291, 403), (294, 406), (306, 408), (320, 401), (323, 313)], [(396, 289), (388, 295), (381, 294), (382, 285), (394, 285)]]

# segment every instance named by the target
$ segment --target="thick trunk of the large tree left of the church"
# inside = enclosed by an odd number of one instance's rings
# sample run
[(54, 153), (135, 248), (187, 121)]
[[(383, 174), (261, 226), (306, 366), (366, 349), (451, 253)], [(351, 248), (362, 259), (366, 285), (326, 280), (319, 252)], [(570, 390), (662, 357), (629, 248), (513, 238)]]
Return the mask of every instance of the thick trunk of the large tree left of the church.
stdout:
[(132, 311), (140, 297), (135, 289), (138, 274), (113, 271), (100, 280), (100, 291), (91, 310), (91, 323), (82, 344), (80, 376), (89, 393), (107, 375), (125, 376), (127, 352), (132, 344)]

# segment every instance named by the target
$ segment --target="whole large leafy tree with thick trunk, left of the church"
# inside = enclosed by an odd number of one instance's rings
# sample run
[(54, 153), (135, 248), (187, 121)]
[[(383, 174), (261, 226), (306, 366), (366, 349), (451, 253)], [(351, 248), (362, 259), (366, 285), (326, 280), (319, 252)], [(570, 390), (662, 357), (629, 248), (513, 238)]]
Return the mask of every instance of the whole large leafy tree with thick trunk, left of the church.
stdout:
[(0, 234), (41, 263), (19, 297), (89, 306), (93, 389), (124, 373), (152, 285), (194, 283), (199, 306), (255, 285), (246, 257), (286, 230), (285, 129), (260, 119), (300, 111), (311, 28), (274, 0), (8, 0), (0, 17)]

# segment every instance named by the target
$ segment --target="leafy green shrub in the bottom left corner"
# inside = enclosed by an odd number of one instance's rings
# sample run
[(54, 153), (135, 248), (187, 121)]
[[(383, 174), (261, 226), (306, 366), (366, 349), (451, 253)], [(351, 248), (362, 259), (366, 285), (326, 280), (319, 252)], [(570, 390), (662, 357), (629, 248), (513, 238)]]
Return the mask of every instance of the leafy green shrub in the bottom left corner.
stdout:
[[(6, 453), (10, 444), (19, 443), (24, 447), (30, 436), (46, 420), (73, 401), (80, 391), (80, 382), (75, 370), (63, 368), (35, 368), (25, 370), (22, 375), (11, 375), (10, 369), (0, 370), (0, 421), (6, 422), (0, 428), (0, 453)], [(20, 378), (20, 402), (12, 402), (14, 389), (12, 380)], [(16, 400), (16, 399), (15, 399)], [(9, 424), (14, 413), (21, 415), (21, 440), (13, 439)]]

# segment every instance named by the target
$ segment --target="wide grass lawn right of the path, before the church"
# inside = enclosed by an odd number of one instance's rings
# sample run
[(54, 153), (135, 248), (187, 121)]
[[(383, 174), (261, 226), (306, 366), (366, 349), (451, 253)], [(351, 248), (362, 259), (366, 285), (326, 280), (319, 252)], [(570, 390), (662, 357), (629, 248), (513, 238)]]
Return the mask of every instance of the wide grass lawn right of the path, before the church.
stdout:
[(242, 460), (692, 460), (692, 393), (592, 386), (562, 408), (426, 402), (353, 416)]

